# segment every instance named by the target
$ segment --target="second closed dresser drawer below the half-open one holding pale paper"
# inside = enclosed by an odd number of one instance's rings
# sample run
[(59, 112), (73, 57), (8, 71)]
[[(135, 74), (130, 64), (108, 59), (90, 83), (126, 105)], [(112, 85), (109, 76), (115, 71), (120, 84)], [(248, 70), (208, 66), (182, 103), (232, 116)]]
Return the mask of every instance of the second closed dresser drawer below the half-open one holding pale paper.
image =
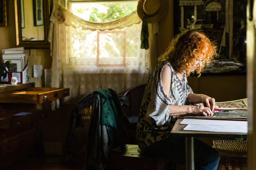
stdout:
[(0, 145), (0, 157), (10, 154), (19, 148), (30, 145), (35, 148), (36, 132), (23, 135), (15, 140)]

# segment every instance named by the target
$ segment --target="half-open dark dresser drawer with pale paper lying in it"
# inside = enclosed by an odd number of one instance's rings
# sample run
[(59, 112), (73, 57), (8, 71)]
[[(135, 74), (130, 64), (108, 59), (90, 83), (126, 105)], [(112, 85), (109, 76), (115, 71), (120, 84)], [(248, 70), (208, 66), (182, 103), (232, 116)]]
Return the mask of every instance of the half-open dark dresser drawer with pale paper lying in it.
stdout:
[(15, 115), (0, 118), (0, 129), (20, 128), (48, 116), (47, 110), (27, 110)]

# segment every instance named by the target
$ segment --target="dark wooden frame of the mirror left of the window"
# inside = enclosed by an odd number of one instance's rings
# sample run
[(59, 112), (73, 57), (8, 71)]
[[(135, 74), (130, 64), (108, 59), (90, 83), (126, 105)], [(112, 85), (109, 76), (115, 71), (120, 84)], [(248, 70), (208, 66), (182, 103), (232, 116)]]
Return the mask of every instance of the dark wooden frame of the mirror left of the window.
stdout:
[(25, 48), (50, 48), (50, 43), (48, 42), (50, 5), (51, 0), (43, 0), (44, 40), (22, 41), (20, 0), (14, 0), (16, 46), (23, 46)]

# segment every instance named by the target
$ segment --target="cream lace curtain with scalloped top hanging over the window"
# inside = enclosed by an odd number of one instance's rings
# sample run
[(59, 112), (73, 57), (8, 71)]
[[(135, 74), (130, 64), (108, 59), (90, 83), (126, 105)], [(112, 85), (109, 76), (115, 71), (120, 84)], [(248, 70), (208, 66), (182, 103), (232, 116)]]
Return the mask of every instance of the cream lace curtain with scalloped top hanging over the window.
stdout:
[(147, 82), (155, 64), (155, 39), (149, 25), (150, 49), (140, 49), (142, 22), (137, 11), (103, 24), (82, 20), (56, 3), (52, 11), (51, 86), (70, 88), (65, 103), (77, 103), (100, 88), (124, 94)]

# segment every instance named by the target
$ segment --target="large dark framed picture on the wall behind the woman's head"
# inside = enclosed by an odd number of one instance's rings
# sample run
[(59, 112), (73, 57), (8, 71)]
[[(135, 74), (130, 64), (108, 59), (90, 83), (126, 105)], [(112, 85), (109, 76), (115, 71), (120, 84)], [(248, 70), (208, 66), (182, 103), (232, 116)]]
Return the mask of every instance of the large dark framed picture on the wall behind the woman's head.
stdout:
[[(174, 34), (186, 29), (205, 33), (218, 47), (216, 61), (227, 63), (213, 72), (245, 74), (246, 4), (247, 0), (174, 0)], [(225, 63), (218, 61), (215, 65)]]

